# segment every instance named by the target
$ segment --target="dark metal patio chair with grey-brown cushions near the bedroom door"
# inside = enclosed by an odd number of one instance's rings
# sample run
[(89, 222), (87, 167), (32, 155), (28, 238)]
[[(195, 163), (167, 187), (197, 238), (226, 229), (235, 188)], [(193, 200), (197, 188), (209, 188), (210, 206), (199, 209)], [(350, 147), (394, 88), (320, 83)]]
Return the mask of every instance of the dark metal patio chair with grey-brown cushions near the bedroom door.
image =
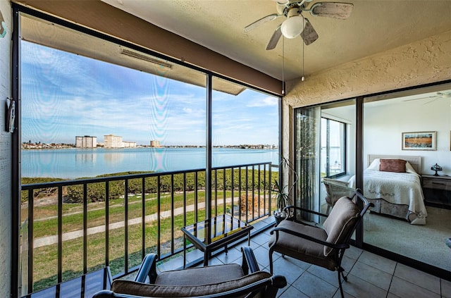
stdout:
[(330, 271), (337, 271), (341, 297), (343, 297), (342, 280), (347, 280), (341, 261), (345, 250), (350, 247), (350, 239), (357, 225), (362, 221), (366, 211), (373, 204), (369, 203), (359, 190), (351, 197), (338, 199), (330, 215), (288, 206), (317, 216), (326, 217), (323, 226), (307, 225), (299, 221), (281, 221), (271, 230), (269, 245), (269, 270), (273, 274), (273, 252), (283, 256), (311, 263)]

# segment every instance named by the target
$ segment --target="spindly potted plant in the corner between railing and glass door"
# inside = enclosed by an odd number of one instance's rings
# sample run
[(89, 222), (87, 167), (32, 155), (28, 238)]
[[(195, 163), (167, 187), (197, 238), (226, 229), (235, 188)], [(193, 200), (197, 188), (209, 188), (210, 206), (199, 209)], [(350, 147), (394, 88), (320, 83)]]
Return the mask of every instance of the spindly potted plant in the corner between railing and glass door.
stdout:
[(297, 175), (295, 168), (292, 166), (292, 163), (282, 156), (282, 161), (280, 161), (279, 166), (279, 175), (285, 169), (288, 169), (288, 173), (292, 173), (293, 180), (291, 185), (280, 185), (276, 179), (274, 180), (273, 192), (276, 192), (277, 209), (274, 211), (273, 216), (276, 218), (277, 224), (285, 218), (294, 216), (292, 212), (288, 214), (288, 211), (285, 211), (284, 209), (286, 206), (290, 206), (292, 204), (292, 191), (295, 189), (299, 176)]

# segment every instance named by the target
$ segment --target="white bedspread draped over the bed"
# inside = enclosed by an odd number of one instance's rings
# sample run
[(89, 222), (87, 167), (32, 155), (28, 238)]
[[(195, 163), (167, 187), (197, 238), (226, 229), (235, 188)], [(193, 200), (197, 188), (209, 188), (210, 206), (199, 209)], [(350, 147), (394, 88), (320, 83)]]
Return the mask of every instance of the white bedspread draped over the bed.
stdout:
[[(355, 180), (351, 179), (351, 187), (354, 187), (353, 182)], [(368, 199), (384, 199), (391, 204), (407, 205), (411, 213), (407, 215), (407, 219), (413, 218), (412, 224), (426, 224), (427, 212), (418, 174), (364, 170), (364, 196)]]

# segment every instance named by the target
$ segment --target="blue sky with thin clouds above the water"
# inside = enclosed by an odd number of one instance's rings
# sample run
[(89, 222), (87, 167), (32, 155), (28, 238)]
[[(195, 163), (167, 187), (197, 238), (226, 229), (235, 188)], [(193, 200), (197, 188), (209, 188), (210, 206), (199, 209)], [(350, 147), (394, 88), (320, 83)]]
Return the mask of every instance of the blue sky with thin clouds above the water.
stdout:
[[(22, 42), (22, 141), (205, 144), (203, 87)], [(278, 144), (276, 97), (213, 93), (214, 145)]]

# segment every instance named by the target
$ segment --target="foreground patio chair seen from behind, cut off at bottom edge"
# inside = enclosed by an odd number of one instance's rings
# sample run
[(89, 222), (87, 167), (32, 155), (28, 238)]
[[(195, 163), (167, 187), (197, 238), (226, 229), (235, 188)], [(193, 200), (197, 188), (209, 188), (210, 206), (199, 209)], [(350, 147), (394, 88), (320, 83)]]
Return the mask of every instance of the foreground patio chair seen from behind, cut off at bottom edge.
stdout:
[(156, 273), (156, 254), (147, 254), (135, 281), (114, 280), (111, 290), (94, 298), (132, 297), (276, 297), (287, 281), (260, 271), (250, 247), (242, 247), (242, 265), (226, 264)]

